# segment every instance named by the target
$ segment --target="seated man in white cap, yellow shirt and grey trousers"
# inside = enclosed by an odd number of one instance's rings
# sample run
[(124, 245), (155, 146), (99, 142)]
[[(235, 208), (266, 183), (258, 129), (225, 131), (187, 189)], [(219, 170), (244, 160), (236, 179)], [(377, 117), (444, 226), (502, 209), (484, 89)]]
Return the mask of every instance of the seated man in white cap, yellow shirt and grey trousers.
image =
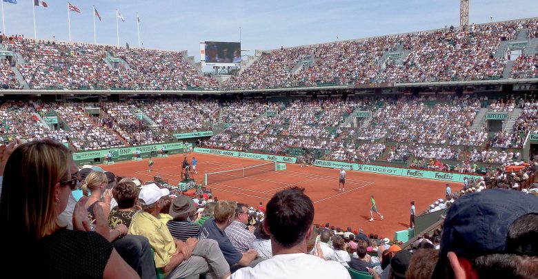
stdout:
[(140, 190), (142, 210), (132, 217), (129, 233), (146, 236), (155, 251), (155, 266), (168, 278), (187, 277), (207, 272), (208, 278), (227, 278), (230, 268), (213, 240), (188, 238), (176, 240), (159, 220), (163, 192), (155, 184)]

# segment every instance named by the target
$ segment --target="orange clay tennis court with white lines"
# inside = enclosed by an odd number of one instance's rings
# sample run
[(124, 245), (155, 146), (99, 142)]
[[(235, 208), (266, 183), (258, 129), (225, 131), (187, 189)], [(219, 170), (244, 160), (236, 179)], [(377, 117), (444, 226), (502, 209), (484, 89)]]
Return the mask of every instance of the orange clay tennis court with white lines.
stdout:
[[(260, 165), (268, 161), (233, 158), (220, 155), (190, 153), (196, 156), (198, 174), (193, 174), (197, 184), (203, 183), (205, 173), (221, 172), (229, 169)], [(153, 171), (148, 172), (148, 158), (143, 161), (125, 161), (115, 165), (101, 165), (103, 169), (117, 176), (133, 176), (141, 180), (153, 180), (153, 176), (167, 179), (170, 185), (179, 183), (183, 154), (168, 158), (153, 158)], [(415, 200), (417, 214), (426, 209), (434, 200), (444, 198), (444, 181), (420, 178), (403, 178), (383, 174), (346, 171), (346, 192), (338, 192), (339, 169), (323, 167), (302, 167), (286, 164), (287, 169), (277, 172), (255, 172), (250, 177), (215, 178), (208, 187), (219, 200), (237, 200), (256, 207), (261, 201), (266, 205), (280, 189), (299, 186), (306, 189), (315, 205), (315, 223), (329, 222), (335, 227), (362, 228), (367, 234), (378, 234), (393, 238), (394, 232), (409, 227), (410, 201)], [(221, 180), (220, 182), (218, 180)], [(452, 191), (460, 188), (451, 184)], [(370, 219), (370, 195), (375, 196), (377, 208), (383, 220), (375, 215)]]

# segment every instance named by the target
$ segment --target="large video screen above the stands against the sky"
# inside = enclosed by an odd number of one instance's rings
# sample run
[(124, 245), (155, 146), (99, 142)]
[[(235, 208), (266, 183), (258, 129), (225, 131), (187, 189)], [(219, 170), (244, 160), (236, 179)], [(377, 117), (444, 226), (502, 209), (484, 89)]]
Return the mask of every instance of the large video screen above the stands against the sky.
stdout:
[(200, 45), (201, 58), (206, 65), (239, 65), (241, 63), (241, 43), (206, 41)]

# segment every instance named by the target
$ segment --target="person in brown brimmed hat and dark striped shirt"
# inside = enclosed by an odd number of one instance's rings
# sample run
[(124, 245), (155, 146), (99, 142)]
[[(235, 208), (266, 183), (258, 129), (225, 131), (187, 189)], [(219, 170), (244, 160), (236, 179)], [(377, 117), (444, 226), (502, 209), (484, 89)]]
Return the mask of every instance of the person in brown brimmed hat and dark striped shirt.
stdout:
[(190, 216), (196, 212), (195, 202), (186, 195), (179, 195), (170, 205), (170, 216), (172, 220), (166, 223), (170, 234), (181, 241), (187, 241), (188, 238), (198, 238), (200, 226), (192, 223)]

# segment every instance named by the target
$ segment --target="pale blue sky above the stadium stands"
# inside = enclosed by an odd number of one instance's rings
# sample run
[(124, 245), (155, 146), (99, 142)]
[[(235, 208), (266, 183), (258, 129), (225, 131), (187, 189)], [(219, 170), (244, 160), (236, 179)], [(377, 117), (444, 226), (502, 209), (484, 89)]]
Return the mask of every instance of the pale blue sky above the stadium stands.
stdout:
[[(38, 39), (68, 41), (67, 1), (45, 0), (36, 7)], [(470, 22), (484, 23), (538, 17), (536, 0), (470, 0)], [(72, 41), (93, 43), (92, 6), (97, 43), (116, 45), (115, 10), (120, 45), (138, 45), (136, 12), (145, 48), (188, 50), (199, 61), (201, 41), (239, 41), (242, 49), (268, 50), (459, 25), (459, 1), (432, 0), (72, 0), (81, 14), (71, 12)], [(6, 32), (33, 38), (33, 0), (3, 3)]]

